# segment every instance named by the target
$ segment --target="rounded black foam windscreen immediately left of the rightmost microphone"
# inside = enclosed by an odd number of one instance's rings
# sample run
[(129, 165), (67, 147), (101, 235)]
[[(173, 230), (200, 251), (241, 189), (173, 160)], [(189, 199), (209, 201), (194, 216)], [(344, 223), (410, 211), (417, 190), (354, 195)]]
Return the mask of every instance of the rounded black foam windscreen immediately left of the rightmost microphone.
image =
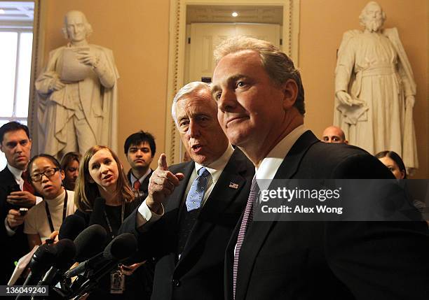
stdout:
[(106, 244), (107, 232), (104, 227), (93, 224), (84, 229), (79, 236), (74, 239), (76, 246), (76, 262), (83, 262), (97, 253), (102, 252)]

